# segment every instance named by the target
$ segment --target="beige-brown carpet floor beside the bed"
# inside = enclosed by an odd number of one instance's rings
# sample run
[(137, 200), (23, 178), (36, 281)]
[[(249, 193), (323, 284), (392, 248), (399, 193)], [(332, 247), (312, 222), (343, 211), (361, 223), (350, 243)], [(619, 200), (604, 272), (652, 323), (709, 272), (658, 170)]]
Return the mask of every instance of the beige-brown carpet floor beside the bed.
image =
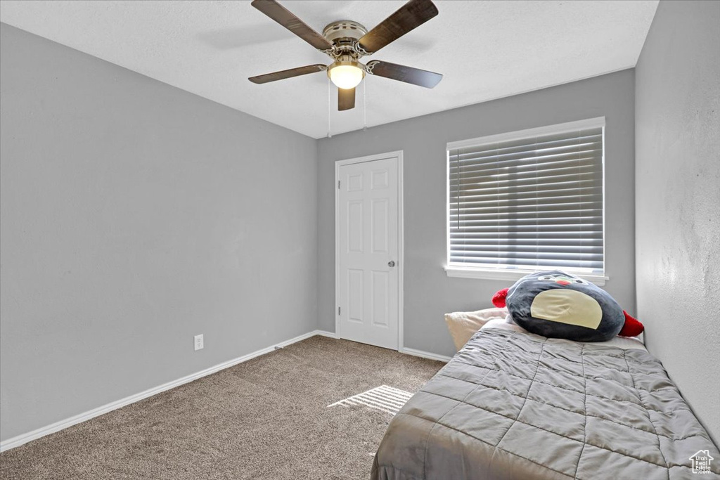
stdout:
[(0, 479), (369, 479), (392, 415), (442, 363), (312, 337), (0, 454)]

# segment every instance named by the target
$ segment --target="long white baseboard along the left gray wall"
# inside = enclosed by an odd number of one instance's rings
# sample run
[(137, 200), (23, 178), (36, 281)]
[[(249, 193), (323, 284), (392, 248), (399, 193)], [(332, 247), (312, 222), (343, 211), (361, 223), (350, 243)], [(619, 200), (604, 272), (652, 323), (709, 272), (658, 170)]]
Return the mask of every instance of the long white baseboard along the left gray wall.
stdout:
[(291, 338), (290, 340), (285, 340), (284, 342), (277, 343), (275, 345), (271, 345), (267, 348), (263, 348), (261, 350), (257, 350), (253, 353), (248, 353), (247, 355), (243, 355), (238, 358), (233, 358), (233, 360), (229, 360), (223, 363), (218, 363), (215, 366), (212, 366), (210, 368), (205, 368), (202, 371), (199, 371), (197, 373), (192, 373), (188, 376), (184, 376), (181, 379), (168, 381), (166, 384), (162, 384), (160, 386), (153, 387), (151, 389), (141, 391), (139, 394), (130, 395), (130, 397), (125, 397), (124, 399), (116, 400), (115, 402), (110, 402), (109, 404), (104, 404), (102, 407), (97, 407), (91, 410), (88, 410), (87, 412), (81, 413), (79, 415), (75, 415), (74, 417), (66, 418), (65, 420), (60, 420), (59, 422), (55, 422), (53, 424), (47, 425), (45, 427), (40, 427), (37, 430), (32, 430), (32, 432), (28, 433), (22, 433), (21, 435), (17, 435), (13, 438), (8, 438), (7, 440), (4, 440), (0, 442), (0, 452), (4, 452), (5, 450), (9, 450), (11, 448), (19, 447), (20, 445), (23, 445), (24, 443), (30, 442), (32, 440), (36, 440), (37, 438), (44, 437), (45, 435), (50, 435), (50, 433), (59, 432), (60, 430), (66, 429), (68, 427), (72, 427), (73, 425), (76, 425), (81, 422), (85, 422), (86, 420), (90, 420), (91, 418), (97, 417), (99, 415), (103, 415), (107, 412), (112, 412), (112, 410), (119, 409), (120, 407), (125, 407), (125, 405), (129, 405), (135, 402), (139, 402), (142, 399), (146, 399), (148, 397), (152, 397), (153, 395), (159, 394), (163, 391), (174, 389), (176, 386), (180, 386), (182, 384), (187, 384), (191, 381), (200, 379), (204, 376), (210, 375), (211, 373), (215, 373), (220, 370), (224, 370), (225, 368), (229, 368), (231, 366), (237, 365), (238, 363), (243, 363), (248, 360), (251, 360), (252, 358), (265, 355), (266, 353), (270, 353), (271, 351), (275, 350), (277, 347), (282, 348), (287, 345), (292, 345), (293, 343), (300, 342), (300, 340), (305, 340), (306, 338), (314, 337), (315, 335), (323, 335), (324, 337), (331, 337), (336, 338), (334, 333), (331, 332), (325, 332), (323, 330), (313, 330), (312, 332), (307, 332), (304, 335), (297, 336), (295, 338)]

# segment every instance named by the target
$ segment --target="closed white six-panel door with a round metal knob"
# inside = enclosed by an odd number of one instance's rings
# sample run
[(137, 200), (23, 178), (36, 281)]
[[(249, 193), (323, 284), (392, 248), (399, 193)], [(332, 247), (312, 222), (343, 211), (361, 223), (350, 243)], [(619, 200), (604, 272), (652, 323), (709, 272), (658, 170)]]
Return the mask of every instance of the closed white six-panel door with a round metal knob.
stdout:
[(398, 348), (398, 157), (338, 168), (338, 336)]

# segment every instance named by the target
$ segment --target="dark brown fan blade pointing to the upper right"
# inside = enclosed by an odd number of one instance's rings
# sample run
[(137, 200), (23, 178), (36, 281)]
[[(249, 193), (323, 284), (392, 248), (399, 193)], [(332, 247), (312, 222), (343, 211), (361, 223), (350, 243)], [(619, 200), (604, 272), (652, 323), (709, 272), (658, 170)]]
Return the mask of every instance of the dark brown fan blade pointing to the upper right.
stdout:
[(380, 22), (377, 27), (358, 40), (359, 46), (368, 54), (375, 53), (390, 42), (410, 32), (438, 14), (431, 0), (410, 0), (394, 14)]

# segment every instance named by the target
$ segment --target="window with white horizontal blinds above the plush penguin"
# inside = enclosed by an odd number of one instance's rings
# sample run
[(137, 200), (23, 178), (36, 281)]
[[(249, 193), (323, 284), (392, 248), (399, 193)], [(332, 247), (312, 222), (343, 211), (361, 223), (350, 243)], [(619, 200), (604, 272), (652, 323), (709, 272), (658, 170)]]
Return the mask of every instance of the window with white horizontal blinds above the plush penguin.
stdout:
[(448, 144), (449, 276), (603, 284), (605, 119)]

